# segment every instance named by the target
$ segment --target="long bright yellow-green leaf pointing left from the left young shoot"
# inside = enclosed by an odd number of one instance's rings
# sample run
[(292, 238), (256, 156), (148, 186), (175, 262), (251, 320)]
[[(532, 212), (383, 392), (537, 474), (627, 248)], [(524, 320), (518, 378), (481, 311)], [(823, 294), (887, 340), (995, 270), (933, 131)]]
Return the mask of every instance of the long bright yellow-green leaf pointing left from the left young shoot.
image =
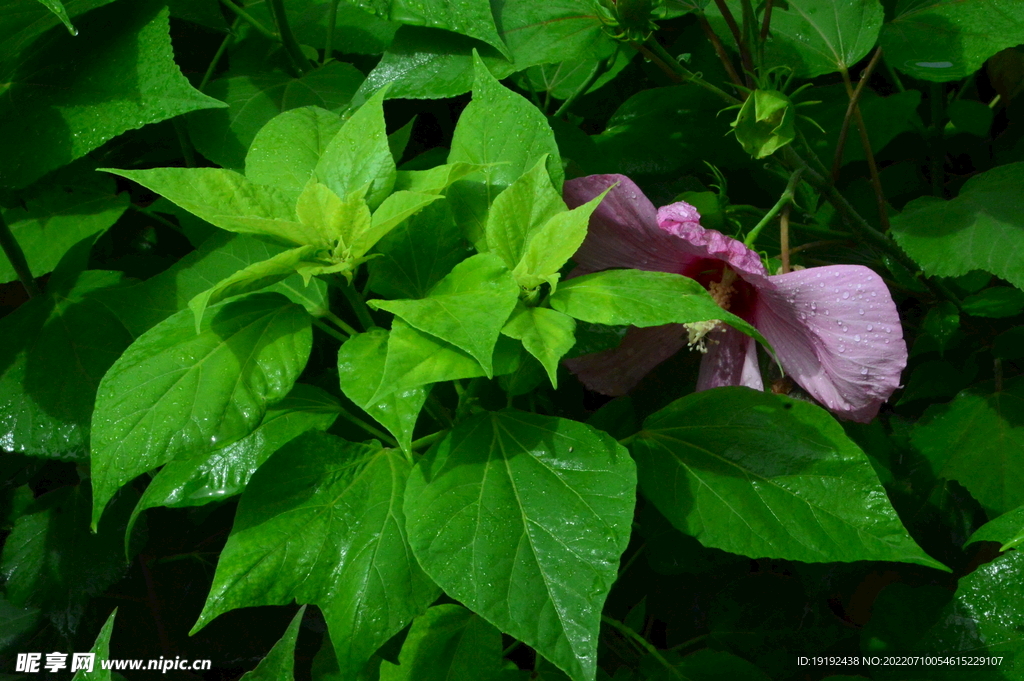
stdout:
[(232, 170), (102, 170), (134, 180), (221, 229), (265, 235), (297, 246), (317, 243), (315, 230), (296, 221), (295, 202), (288, 193), (253, 184)]

